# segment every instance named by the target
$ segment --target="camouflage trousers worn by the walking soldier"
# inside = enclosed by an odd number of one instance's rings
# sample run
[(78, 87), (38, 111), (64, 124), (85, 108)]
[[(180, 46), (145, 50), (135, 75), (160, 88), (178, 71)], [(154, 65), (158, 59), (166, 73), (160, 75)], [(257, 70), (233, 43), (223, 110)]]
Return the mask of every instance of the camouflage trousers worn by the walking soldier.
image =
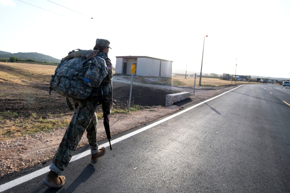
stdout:
[(91, 120), (95, 107), (95, 98), (86, 100), (73, 99), (73, 102), (76, 108), (75, 113), (49, 167), (50, 170), (57, 174), (64, 172), (85, 130), (87, 131), (91, 153), (93, 154), (98, 151), (98, 120), (96, 114)]

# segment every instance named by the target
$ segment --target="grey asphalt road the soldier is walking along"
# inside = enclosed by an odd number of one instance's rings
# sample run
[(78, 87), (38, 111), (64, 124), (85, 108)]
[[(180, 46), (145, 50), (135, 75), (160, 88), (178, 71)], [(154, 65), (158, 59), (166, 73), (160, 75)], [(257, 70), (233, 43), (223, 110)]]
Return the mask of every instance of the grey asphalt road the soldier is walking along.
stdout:
[(48, 162), (0, 179), (0, 191), (290, 192), (289, 104), (290, 91), (282, 86), (243, 85), (114, 135), (113, 150), (96, 164), (89, 155), (69, 164), (61, 189), (44, 186), (40, 174), (6, 190)]

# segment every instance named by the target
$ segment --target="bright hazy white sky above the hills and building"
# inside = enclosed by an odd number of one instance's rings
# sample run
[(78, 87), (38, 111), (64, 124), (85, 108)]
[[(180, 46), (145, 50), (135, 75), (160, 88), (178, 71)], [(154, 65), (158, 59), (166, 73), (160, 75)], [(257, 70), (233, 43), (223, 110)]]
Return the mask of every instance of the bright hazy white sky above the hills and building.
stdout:
[(51, 1), (0, 0), (0, 50), (61, 59), (105, 38), (113, 65), (150, 56), (200, 72), (208, 35), (203, 73), (235, 74), (237, 63), (238, 75), (290, 78), (290, 0)]

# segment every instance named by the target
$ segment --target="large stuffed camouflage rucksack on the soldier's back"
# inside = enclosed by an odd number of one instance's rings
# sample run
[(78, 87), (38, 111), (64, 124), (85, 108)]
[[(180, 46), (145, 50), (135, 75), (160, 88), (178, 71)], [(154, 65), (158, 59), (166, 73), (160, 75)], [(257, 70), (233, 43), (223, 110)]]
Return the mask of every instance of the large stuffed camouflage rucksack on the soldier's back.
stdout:
[(57, 65), (49, 93), (53, 90), (66, 98), (86, 99), (108, 75), (104, 58), (96, 56), (98, 50), (77, 50)]

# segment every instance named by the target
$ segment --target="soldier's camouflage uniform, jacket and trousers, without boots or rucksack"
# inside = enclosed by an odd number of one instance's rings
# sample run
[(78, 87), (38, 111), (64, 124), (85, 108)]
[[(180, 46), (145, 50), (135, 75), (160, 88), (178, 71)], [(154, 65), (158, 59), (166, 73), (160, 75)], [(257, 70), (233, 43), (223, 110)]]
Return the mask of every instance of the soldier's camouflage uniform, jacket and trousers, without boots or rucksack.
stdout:
[[(97, 39), (98, 40), (98, 39)], [(109, 47), (109, 46), (108, 46)], [(90, 145), (91, 154), (98, 152), (97, 144), (97, 116), (96, 113), (93, 116), (94, 107), (96, 101), (98, 104), (102, 103), (103, 112), (107, 114), (111, 113), (112, 109), (112, 78), (113, 78), (113, 67), (108, 54), (99, 52), (97, 56), (105, 59), (108, 68), (108, 75), (104, 78), (100, 87), (103, 91), (104, 99), (99, 101), (101, 98), (100, 93), (97, 89), (93, 90), (93, 94), (88, 99), (77, 99), (73, 98), (73, 103), (76, 108), (75, 113), (70, 121), (70, 124), (64, 134), (64, 137), (55, 153), (52, 163), (49, 169), (57, 174), (62, 174), (64, 169), (70, 162), (73, 152), (76, 150), (81, 137), (85, 130), (87, 131), (87, 138)], [(93, 116), (92, 120), (91, 117)]]

